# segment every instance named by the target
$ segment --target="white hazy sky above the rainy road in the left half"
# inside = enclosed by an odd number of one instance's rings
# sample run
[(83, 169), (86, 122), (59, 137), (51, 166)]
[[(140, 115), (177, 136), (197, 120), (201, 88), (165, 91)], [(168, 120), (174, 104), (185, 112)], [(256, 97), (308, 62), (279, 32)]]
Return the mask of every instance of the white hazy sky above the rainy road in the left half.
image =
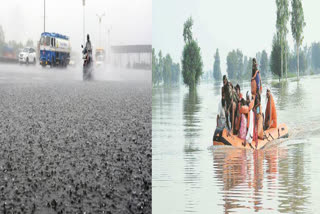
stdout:
[[(25, 43), (36, 42), (43, 32), (44, 0), (2, 1), (0, 25), (5, 39)], [(85, 25), (93, 45), (98, 43), (99, 22), (96, 14), (106, 13), (101, 32), (107, 38), (111, 28), (111, 44), (151, 44), (152, 0), (86, 0)], [(82, 0), (46, 0), (46, 31), (70, 37), (72, 48), (79, 49), (83, 40)]]

